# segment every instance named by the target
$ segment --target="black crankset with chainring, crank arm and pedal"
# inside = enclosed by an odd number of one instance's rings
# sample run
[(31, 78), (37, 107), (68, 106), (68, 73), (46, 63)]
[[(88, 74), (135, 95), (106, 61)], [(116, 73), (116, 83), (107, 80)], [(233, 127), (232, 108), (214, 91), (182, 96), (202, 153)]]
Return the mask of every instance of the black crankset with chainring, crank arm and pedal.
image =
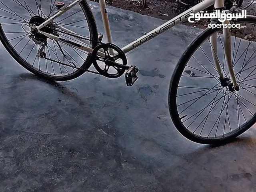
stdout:
[[(99, 56), (98, 51), (104, 53), (104, 56)], [(115, 52), (112, 56), (112, 52)], [(112, 43), (101, 43), (96, 46), (92, 52), (94, 68), (107, 78), (118, 78), (125, 71), (125, 81), (127, 86), (132, 86), (138, 79), (139, 71), (136, 66), (127, 66), (127, 58), (124, 52)]]

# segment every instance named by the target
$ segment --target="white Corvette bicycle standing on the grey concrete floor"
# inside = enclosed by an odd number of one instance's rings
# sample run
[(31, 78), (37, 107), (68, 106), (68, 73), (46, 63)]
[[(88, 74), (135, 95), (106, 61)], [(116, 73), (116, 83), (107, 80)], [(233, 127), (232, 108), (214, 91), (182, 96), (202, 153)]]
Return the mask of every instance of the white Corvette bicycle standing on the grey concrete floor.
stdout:
[[(35, 0), (30, 2), (26, 0), (3, 0), (0, 2), (0, 5), (3, 7), (0, 7), (0, 14), (4, 13), (4, 15), (0, 15), (0, 40), (6, 50), (9, 52), (9, 54), (21, 66), (42, 78), (54, 81), (66, 81), (77, 78), (85, 72), (102, 75), (107, 78), (119, 78), (125, 73), (126, 85), (132, 86), (138, 79), (137, 73), (139, 69), (136, 66), (128, 66), (126, 58), (126, 54), (128, 52), (134, 50), (145, 42), (148, 42), (159, 34), (162, 34), (163, 32), (169, 30), (176, 24), (186, 21), (190, 16), (190, 13), (198, 13), (202, 10), (206, 10), (207, 8), (211, 9), (213, 6), (215, 9), (223, 10), (225, 8), (224, 3), (227, 3), (224, 2), (224, 0), (204, 0), (196, 6), (186, 10), (182, 14), (165, 22), (158, 28), (131, 42), (127, 46), (119, 48), (112, 42), (105, 0), (99, 0), (99, 2), (105, 33), (107, 36), (107, 42), (102, 42), (103, 35), (101, 33), (98, 33), (94, 15), (92, 14), (92, 10), (86, 0), (74, 0), (73, 2), (70, 2), (70, 4), (68, 4), (67, 6), (65, 6), (65, 3), (62, 1), (56, 3), (56, 0), (46, 0), (44, 1), (44, 4), (42, 4), (41, 0)], [(242, 4), (241, 0), (230, 2), (228, 2), (226, 6), (226, 9), (230, 11), (238, 11), (236, 10), (236, 8), (240, 7)], [(50, 3), (50, 5), (48, 5), (48, 3)], [(17, 14), (13, 10), (17, 10), (18, 7), (20, 8), (20, 10), (22, 10), (22, 12)], [(54, 10), (57, 10), (57, 12), (54, 13)], [(70, 11), (70, 14), (63, 18), (64, 14), (68, 13), (68, 11)], [(72, 16), (74, 17), (74, 15), (78, 13), (81, 14), (79, 16), (81, 20), (74, 22)], [(10, 16), (15, 16), (15, 18), (11, 18)], [(64, 24), (64, 20), (69, 21), (70, 23)], [(84, 24), (85, 21), (87, 22), (87, 25)], [(82, 26), (78, 26), (78, 23), (80, 22), (83, 23)], [(219, 23), (218, 21), (214, 20), (211, 20), (210, 22), (212, 24)], [(256, 17), (247, 16), (247, 18), (240, 18), (237, 20), (232, 20), (231, 22), (235, 24), (254, 25), (256, 24)], [(226, 21), (226, 23), (230, 22)], [(21, 31), (14, 32), (14, 29), (18, 27), (20, 27)], [(67, 27), (69, 27), (69, 29)], [(80, 28), (78, 29), (78, 27)], [(219, 31), (221, 31), (222, 29), (224, 37), (219, 34)], [(86, 32), (86, 30), (88, 31)], [(86, 34), (81, 34), (81, 32)], [(191, 42), (191, 44), (185, 50), (172, 74), (172, 78), (170, 80), (170, 88), (168, 92), (170, 116), (177, 130), (184, 137), (193, 142), (201, 144), (223, 144), (239, 136), (240, 134), (248, 130), (251, 126), (253, 126), (253, 124), (256, 122), (255, 113), (252, 114), (250, 112), (252, 118), (248, 121), (245, 119), (245, 113), (242, 111), (242, 108), (244, 108), (245, 105), (240, 105), (240, 103), (242, 103), (242, 99), (244, 99), (244, 96), (251, 92), (250, 90), (247, 90), (245, 86), (249, 86), (249, 88), (253, 87), (250, 84), (243, 83), (244, 81), (242, 82), (240, 79), (242, 72), (248, 71), (252, 68), (249, 67), (252, 56), (249, 58), (250, 62), (248, 62), (248, 60), (246, 64), (242, 64), (241, 70), (239, 72), (234, 72), (237, 70), (236, 67), (238, 67), (238, 64), (236, 63), (240, 58), (235, 62), (234, 50), (232, 55), (231, 38), (234, 38), (234, 36), (231, 36), (231, 33), (234, 33), (234, 31), (227, 28), (207, 28), (206, 30), (204, 30), (199, 36), (197, 36), (193, 40), (193, 42)], [(217, 36), (217, 34), (219, 35)], [(10, 39), (8, 39), (9, 36)], [(240, 36), (241, 38), (245, 38), (243, 34)], [(253, 44), (252, 42), (254, 42), (253, 37), (253, 35), (248, 37), (247, 34), (247, 39), (250, 40), (250, 45)], [(221, 64), (217, 52), (218, 46), (220, 46), (220, 44), (217, 44), (217, 40), (221, 39), (223, 39), (224, 41), (224, 44), (222, 44), (224, 53), (220, 53), (222, 54), (222, 56), (224, 56), (223, 64)], [(24, 42), (24, 40), (26, 40), (25, 46), (21, 47), (20, 43)], [(206, 46), (206, 48), (210, 49), (209, 52), (211, 52), (212, 54), (211, 59), (213, 59), (213, 62), (210, 58), (208, 58), (208, 60), (212, 65), (213, 70), (203, 71), (203, 69), (206, 68), (206, 65), (201, 64), (200, 62), (197, 62), (196, 64), (192, 63), (193, 66), (189, 66), (189, 60), (191, 58), (194, 58), (192, 55), (197, 50), (202, 50), (201, 46), (207, 40), (208, 42), (210, 42), (210, 46)], [(240, 43), (238, 47), (239, 46), (241, 46)], [(234, 45), (234, 48), (235, 47), (236, 46)], [(247, 48), (246, 53), (249, 51), (250, 50)], [(23, 58), (22, 54), (24, 54), (25, 52), (28, 53), (28, 56), (26, 56), (26, 58)], [(71, 56), (72, 53), (77, 54), (77, 60), (74, 60), (74, 57)], [(33, 54), (34, 56), (31, 57), (31, 54)], [(62, 60), (58, 58), (58, 54), (62, 56)], [(201, 56), (202, 55), (206, 55), (206, 52), (203, 51), (203, 54), (201, 54)], [(246, 56), (244, 57), (244, 61), (245, 58)], [(40, 62), (43, 62), (43, 65), (40, 66)], [(79, 62), (81, 62), (82, 64), (80, 65)], [(225, 72), (225, 62), (227, 64), (228, 73)], [(89, 70), (90, 66), (92, 65), (97, 72)], [(196, 69), (196, 66), (200, 66), (201, 70)], [(247, 68), (245, 69), (246, 66)], [(190, 70), (185, 70), (186, 67), (190, 68)], [(254, 74), (251, 74), (254, 70), (252, 70), (248, 77), (252, 78)], [(214, 72), (215, 74), (213, 74)], [(179, 86), (180, 83), (187, 84), (189, 82), (194, 82), (194, 80), (199, 77), (207, 78), (207, 76), (198, 76), (198, 74), (207, 74), (209, 75), (208, 77), (210, 78), (210, 80), (207, 82), (207, 84), (205, 83), (206, 81), (201, 80), (197, 82), (197, 86), (188, 87), (190, 90), (196, 90), (194, 92), (184, 92), (183, 90), (182, 94), (178, 95), (178, 89), (185, 88), (184, 86)], [(188, 77), (190, 78), (190, 80), (181, 80), (182, 77)], [(191, 78), (194, 79), (191, 80)], [(212, 86), (212, 84), (215, 85)], [(210, 87), (206, 88), (207, 85), (210, 85)], [(245, 95), (241, 96), (240, 93), (243, 90), (246, 90), (247, 92)], [(190, 117), (188, 117), (188, 113), (184, 113), (184, 111), (189, 106), (192, 106), (193, 103), (189, 104), (190, 102), (198, 102), (202, 98), (202, 96), (209, 96), (212, 93), (215, 94), (215, 97), (206, 106), (207, 110), (208, 108), (210, 108), (209, 113), (206, 116), (198, 119), (198, 116), (205, 112), (206, 108), (199, 110), (196, 114)], [(218, 95), (220, 93), (223, 93), (223, 98), (218, 98)], [(189, 102), (183, 102), (180, 105), (177, 104), (178, 100), (180, 100), (180, 97), (189, 95), (189, 97), (191, 98), (192, 95), (196, 96), (197, 94), (199, 94), (199, 96), (190, 100)], [(240, 97), (238, 96), (238, 94)], [(228, 96), (227, 100), (226, 96)], [(235, 130), (231, 130), (231, 124), (234, 124), (234, 121), (230, 122), (230, 115), (228, 114), (229, 105), (226, 103), (229, 102), (232, 96), (234, 96), (235, 98), (234, 102), (232, 103), (232, 107), (234, 108), (234, 106), (237, 105), (238, 116), (238, 128), (236, 128)], [(199, 102), (201, 102), (201, 100)], [(210, 113), (212, 111), (216, 111), (216, 106), (219, 103), (220, 105), (222, 105), (222, 108), (220, 110), (220, 115), (214, 122), (212, 121), (213, 113)], [(178, 108), (180, 106), (185, 107), (185, 109), (179, 110)], [(189, 112), (196, 111), (198, 110), (197, 108), (198, 106), (195, 106)], [(225, 118), (220, 117), (225, 109)], [(246, 109), (248, 108), (246, 107)], [(234, 115), (234, 112), (231, 113), (232, 118), (236, 116)], [(245, 120), (242, 126), (240, 126), (240, 115)], [(226, 122), (227, 119), (228, 122)], [(194, 131), (192, 131), (185, 127), (186, 124), (189, 124), (190, 126), (195, 121), (200, 122), (198, 127), (202, 126), (202, 130), (198, 129), (197, 127)], [(210, 126), (208, 128), (210, 133), (207, 136), (203, 136), (202, 132), (206, 121), (212, 121), (212, 124), (214, 125), (213, 127)], [(223, 123), (223, 121), (225, 122)], [(224, 131), (223, 133), (220, 132), (220, 136), (217, 136), (219, 125), (222, 125), (224, 127)], [(217, 128), (215, 130), (216, 126)], [(227, 128), (225, 132), (226, 126), (229, 127), (230, 131), (228, 130), (227, 132)]]

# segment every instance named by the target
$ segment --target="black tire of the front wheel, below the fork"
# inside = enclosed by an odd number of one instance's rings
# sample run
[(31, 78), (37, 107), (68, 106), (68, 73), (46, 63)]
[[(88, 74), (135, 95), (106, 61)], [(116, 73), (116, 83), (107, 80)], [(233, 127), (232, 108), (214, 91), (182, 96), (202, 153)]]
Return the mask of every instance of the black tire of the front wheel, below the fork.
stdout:
[[(251, 23), (256, 25), (256, 17), (247, 16), (247, 18), (239, 19), (238, 23)], [(214, 29), (207, 28), (190, 43), (190, 45), (188, 46), (188, 48), (185, 50), (180, 60), (178, 61), (170, 80), (169, 93), (168, 93), (168, 105), (169, 105), (169, 112), (172, 118), (172, 122), (174, 123), (174, 126), (177, 128), (177, 130), (185, 138), (200, 144), (210, 144), (210, 145), (225, 144), (227, 142), (232, 141), (234, 138), (236, 138), (240, 134), (244, 133), (246, 130), (248, 130), (251, 126), (253, 126), (256, 123), (256, 112), (255, 112), (253, 114), (253, 118), (250, 119), (247, 123), (241, 125), (239, 130), (231, 132), (230, 135), (224, 138), (208, 139), (208, 138), (202, 138), (202, 137), (196, 136), (190, 130), (188, 130), (182, 123), (181, 118), (178, 114), (178, 109), (176, 107), (177, 91), (178, 91), (178, 84), (180, 82), (182, 72), (184, 71), (186, 64), (188, 63), (188, 61), (190, 60), (194, 52), (196, 52), (198, 47), (201, 44), (203, 44), (203, 42), (205, 42), (205, 40), (207, 40), (213, 33), (218, 32), (219, 30), (220, 29), (218, 28), (214, 28)]]

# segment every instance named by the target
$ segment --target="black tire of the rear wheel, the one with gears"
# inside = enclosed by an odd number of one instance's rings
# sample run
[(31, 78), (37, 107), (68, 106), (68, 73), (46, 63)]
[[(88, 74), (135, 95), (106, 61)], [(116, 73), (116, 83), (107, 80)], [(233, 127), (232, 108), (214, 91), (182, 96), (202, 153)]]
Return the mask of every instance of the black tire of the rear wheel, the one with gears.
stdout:
[[(94, 15), (93, 15), (92, 10), (90, 9), (90, 6), (86, 0), (83, 0), (82, 2), (80, 2), (80, 7), (82, 8), (82, 11), (84, 12), (84, 16), (88, 22), (90, 39), (92, 40), (90, 47), (95, 48), (98, 45), (98, 43), (97, 43), (98, 29), (97, 29)], [(50, 74), (47, 74), (46, 72), (40, 71), (40, 70), (34, 68), (33, 66), (27, 64), (25, 62), (25, 60), (19, 56), (19, 54), (16, 52), (16, 50), (14, 50), (12, 48), (12, 46), (8, 43), (8, 39), (6, 38), (6, 36), (4, 34), (1, 22), (0, 22), (0, 40), (1, 40), (2, 44), (4, 45), (4, 47), (6, 48), (6, 50), (9, 52), (9, 54), (22, 67), (24, 67), (28, 71), (32, 72), (33, 74), (35, 74), (41, 78), (47, 79), (47, 80), (53, 80), (53, 81), (72, 80), (72, 79), (77, 78), (77, 77), (81, 76), (82, 74), (84, 74), (85, 70), (88, 70), (88, 68), (90, 68), (90, 66), (92, 65), (92, 61), (91, 61), (92, 54), (88, 53), (88, 56), (85, 59), (84, 63), (80, 66), (80, 69), (76, 70), (75, 72), (73, 72), (71, 74), (62, 75), (62, 76), (50, 75)]]

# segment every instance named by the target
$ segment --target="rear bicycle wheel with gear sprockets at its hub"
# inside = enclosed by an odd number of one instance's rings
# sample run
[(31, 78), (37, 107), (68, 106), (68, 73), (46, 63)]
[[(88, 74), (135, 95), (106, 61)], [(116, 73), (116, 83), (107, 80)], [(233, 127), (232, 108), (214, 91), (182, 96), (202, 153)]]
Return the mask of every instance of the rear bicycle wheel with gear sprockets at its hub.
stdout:
[[(55, 14), (58, 11), (55, 2), (54, 0), (1, 0), (0, 40), (10, 55), (30, 72), (48, 80), (72, 80), (91, 66), (91, 54), (31, 32), (29, 27), (30, 24), (38, 26)], [(55, 24), (58, 26), (54, 26)], [(60, 26), (73, 33), (62, 33)], [(94, 48), (98, 44), (96, 22), (86, 0), (56, 18), (54, 23), (47, 27), (44, 29), (45, 32), (66, 40), (86, 46), (82, 40), (73, 36), (76, 33), (91, 40), (88, 47)], [(33, 40), (32, 36), (34, 36)], [(42, 58), (38, 57), (39, 52)], [(43, 58), (44, 56), (50, 60)]]

